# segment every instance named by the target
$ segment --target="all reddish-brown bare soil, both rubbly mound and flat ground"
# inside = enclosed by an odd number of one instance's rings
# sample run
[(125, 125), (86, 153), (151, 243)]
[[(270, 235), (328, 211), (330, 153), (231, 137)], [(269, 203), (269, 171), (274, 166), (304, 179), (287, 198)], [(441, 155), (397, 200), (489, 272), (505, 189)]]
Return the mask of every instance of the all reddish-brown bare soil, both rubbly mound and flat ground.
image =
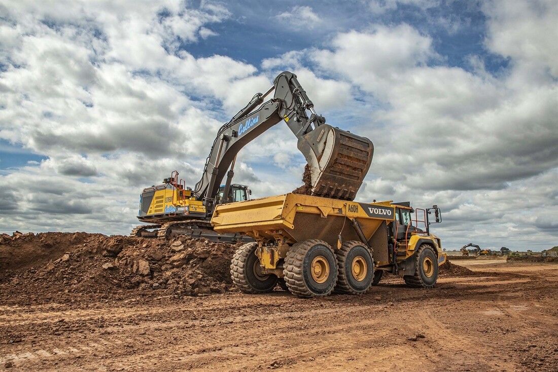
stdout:
[(236, 247), (60, 234), (0, 239), (0, 369), (558, 371), (558, 264), (451, 263), (433, 289), (230, 286)]

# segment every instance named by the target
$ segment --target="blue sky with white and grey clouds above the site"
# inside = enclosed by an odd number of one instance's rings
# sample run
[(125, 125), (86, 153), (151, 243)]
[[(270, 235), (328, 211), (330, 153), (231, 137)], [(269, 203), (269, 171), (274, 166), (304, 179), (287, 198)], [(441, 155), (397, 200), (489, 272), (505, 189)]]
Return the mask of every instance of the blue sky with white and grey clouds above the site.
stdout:
[[(285, 70), (374, 143), (356, 200), (439, 206), (446, 249), (558, 245), (554, 0), (0, 0), (0, 232), (128, 234)], [(234, 181), (284, 194), (304, 165), (278, 123)]]

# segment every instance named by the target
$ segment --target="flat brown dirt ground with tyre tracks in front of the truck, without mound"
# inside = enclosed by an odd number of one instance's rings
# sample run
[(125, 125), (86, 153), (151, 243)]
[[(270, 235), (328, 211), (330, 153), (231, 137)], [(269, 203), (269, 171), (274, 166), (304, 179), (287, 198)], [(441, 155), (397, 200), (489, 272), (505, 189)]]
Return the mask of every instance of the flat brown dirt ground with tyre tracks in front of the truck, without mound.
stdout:
[(0, 368), (558, 371), (558, 264), (469, 267), (431, 290), (391, 278), (362, 297), (0, 303)]

